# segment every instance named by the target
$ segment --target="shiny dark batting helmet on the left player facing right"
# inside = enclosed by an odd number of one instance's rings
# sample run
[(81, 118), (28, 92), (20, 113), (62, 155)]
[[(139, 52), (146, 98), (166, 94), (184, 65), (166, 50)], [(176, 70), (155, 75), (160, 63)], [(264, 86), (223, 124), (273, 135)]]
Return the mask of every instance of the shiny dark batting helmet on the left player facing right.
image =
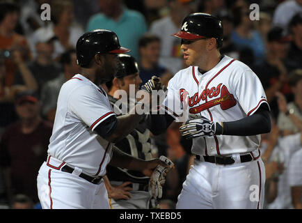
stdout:
[(79, 66), (88, 68), (95, 54), (122, 54), (129, 52), (130, 49), (120, 46), (118, 36), (113, 31), (96, 29), (84, 33), (79, 38), (76, 51)]

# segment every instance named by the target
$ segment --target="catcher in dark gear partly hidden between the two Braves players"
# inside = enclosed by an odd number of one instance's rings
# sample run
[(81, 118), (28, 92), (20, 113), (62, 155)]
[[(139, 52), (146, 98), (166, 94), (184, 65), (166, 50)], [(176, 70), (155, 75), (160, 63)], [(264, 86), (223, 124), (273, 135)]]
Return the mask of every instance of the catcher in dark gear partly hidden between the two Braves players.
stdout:
[[(124, 105), (127, 107), (128, 112), (129, 102), (135, 102), (135, 98), (130, 98), (132, 95), (130, 89), (134, 89), (136, 93), (141, 84), (141, 78), (139, 77), (138, 63), (133, 56), (119, 54), (118, 59), (120, 60), (118, 72), (111, 82), (106, 83), (106, 86), (109, 89), (108, 98), (111, 106), (119, 116), (122, 115), (122, 105), (116, 103), (121, 99), (118, 90), (127, 93), (127, 102)], [(156, 78), (153, 77), (153, 79)], [(152, 82), (148, 84), (152, 84)], [(146, 87), (148, 88), (148, 86)], [(161, 134), (164, 131), (164, 129), (159, 130), (158, 128), (161, 118), (161, 116), (157, 115), (146, 115), (136, 128), (124, 139), (118, 141), (115, 146), (134, 157), (151, 160), (150, 131), (152, 134)], [(173, 163), (167, 160), (166, 157), (161, 157), (161, 159), (167, 162), (170, 167), (173, 166)], [(145, 176), (141, 171), (113, 167), (109, 164), (106, 168), (106, 176), (110, 182), (106, 178), (104, 178), (104, 182), (111, 198), (109, 200), (111, 207), (113, 209), (155, 208), (157, 204), (156, 198), (161, 198), (161, 186), (165, 183), (165, 179), (161, 174), (164, 174), (163, 170), (162, 168), (157, 169), (153, 174), (152, 180), (150, 180), (150, 177)], [(148, 186), (149, 183), (150, 185)], [(148, 188), (150, 189), (150, 193), (148, 192)]]

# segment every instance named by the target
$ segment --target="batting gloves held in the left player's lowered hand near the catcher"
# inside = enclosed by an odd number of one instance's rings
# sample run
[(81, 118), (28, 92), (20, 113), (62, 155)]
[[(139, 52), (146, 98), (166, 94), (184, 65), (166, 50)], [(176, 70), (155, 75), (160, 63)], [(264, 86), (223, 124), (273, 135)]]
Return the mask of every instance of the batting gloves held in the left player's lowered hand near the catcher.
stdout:
[(163, 195), (163, 185), (166, 182), (166, 173), (173, 168), (174, 164), (171, 160), (169, 160), (164, 155), (159, 157), (159, 160), (165, 162), (169, 167), (163, 167), (158, 165), (156, 169), (154, 169), (150, 181), (149, 181), (149, 194), (150, 196), (156, 198), (161, 198)]

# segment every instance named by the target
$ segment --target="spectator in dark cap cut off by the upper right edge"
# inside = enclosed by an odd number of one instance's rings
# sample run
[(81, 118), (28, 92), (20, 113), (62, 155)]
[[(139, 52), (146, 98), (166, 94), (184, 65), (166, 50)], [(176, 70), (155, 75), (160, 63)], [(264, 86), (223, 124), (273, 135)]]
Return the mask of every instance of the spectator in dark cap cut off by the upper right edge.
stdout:
[(292, 34), (292, 43), (287, 54), (288, 69), (291, 72), (302, 68), (302, 12), (292, 17), (288, 29)]

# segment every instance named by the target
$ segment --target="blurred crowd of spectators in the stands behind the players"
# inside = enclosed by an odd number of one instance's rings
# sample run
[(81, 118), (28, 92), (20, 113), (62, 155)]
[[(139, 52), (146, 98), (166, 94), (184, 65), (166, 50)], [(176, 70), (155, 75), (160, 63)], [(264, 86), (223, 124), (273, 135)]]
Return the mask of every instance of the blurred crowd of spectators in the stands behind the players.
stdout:
[[(42, 20), (43, 3), (51, 6), (50, 20)], [(221, 18), (221, 54), (250, 66), (266, 91), (273, 125), (260, 146), (264, 208), (302, 208), (302, 0), (0, 1), (0, 208), (40, 208), (36, 176), (47, 157), (58, 92), (81, 72), (78, 38), (93, 29), (116, 32), (138, 61), (141, 84), (157, 75), (167, 85), (185, 68), (180, 40), (171, 34), (193, 12)], [(154, 157), (166, 155), (176, 165), (161, 208), (175, 208), (194, 158), (178, 128), (173, 123), (152, 137)]]

